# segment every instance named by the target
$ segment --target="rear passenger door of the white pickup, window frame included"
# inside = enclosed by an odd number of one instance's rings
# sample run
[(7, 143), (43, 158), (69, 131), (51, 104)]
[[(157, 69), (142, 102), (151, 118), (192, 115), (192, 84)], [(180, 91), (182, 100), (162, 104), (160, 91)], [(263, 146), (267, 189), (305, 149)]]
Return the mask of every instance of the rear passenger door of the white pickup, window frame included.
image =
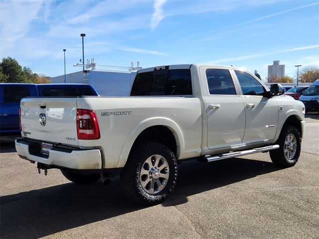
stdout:
[(207, 117), (207, 147), (222, 151), (242, 144), (245, 110), (239, 89), (230, 71), (223, 68), (200, 67), (202, 91)]

